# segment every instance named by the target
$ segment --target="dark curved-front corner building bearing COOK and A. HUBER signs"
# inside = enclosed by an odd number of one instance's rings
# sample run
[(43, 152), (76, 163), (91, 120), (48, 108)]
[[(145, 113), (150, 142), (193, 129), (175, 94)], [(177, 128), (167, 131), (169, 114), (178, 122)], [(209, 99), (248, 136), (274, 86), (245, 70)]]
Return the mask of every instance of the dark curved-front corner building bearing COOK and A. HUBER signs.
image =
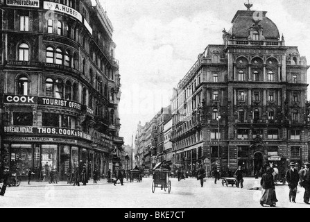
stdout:
[(119, 64), (100, 3), (6, 0), (0, 9), (1, 163), (20, 175), (56, 167), (60, 179), (82, 164), (89, 176), (119, 166)]

